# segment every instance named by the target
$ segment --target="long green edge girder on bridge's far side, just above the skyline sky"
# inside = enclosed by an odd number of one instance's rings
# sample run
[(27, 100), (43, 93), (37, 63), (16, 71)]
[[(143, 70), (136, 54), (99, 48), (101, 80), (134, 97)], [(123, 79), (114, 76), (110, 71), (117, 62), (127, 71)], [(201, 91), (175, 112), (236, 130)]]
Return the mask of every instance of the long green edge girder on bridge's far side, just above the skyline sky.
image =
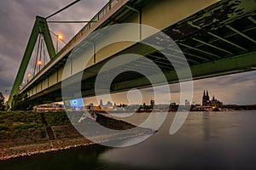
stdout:
[[(256, 70), (256, 52), (241, 54), (231, 59), (219, 59), (214, 62), (207, 62), (201, 65), (195, 65), (190, 67), (190, 71), (193, 76), (193, 80), (224, 76), (245, 71)], [(185, 73), (186, 70), (180, 70), (180, 73)], [(189, 77), (183, 75), (182, 80), (178, 80), (176, 71), (169, 71), (165, 73), (168, 83), (185, 82), (189, 80)], [(154, 75), (152, 78), (160, 77)], [(119, 82), (113, 84), (113, 91), (125, 91), (131, 88), (147, 88), (151, 85), (148, 84), (147, 78), (140, 78), (137, 80), (131, 80), (126, 82)], [(163, 82), (159, 82), (157, 85), (162, 85)]]

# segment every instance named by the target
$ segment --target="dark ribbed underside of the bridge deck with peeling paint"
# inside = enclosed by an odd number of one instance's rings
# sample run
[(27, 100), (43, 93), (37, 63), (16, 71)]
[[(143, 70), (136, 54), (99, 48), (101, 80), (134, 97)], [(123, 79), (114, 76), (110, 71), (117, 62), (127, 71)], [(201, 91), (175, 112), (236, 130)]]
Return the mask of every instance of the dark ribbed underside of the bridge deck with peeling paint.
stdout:
[[(166, 27), (163, 32), (171, 37), (183, 51), (193, 79), (254, 71), (256, 70), (255, 9), (256, 3), (250, 0), (221, 1), (189, 16), (185, 20)], [(155, 42), (155, 45), (164, 39), (160, 35), (149, 38), (154, 38), (152, 42)], [(172, 44), (168, 48), (172, 48)], [(158, 50), (142, 43), (136, 43), (109, 59), (113, 59), (120, 54), (134, 54), (135, 52), (154, 61), (154, 64), (158, 65), (161, 71), (165, 73), (169, 83), (178, 82), (176, 71), (174, 71), (171, 62)], [(62, 65), (64, 65), (66, 59), (62, 59)], [(97, 65), (92, 65), (84, 71), (81, 82), (83, 97), (95, 95), (96, 75), (102, 65), (107, 63), (109, 59), (102, 60)], [(173, 62), (177, 65), (180, 64), (179, 61), (180, 59), (173, 58)], [(142, 61), (139, 59), (132, 62), (137, 65), (144, 65), (140, 63)], [(119, 65), (109, 70), (109, 78), (111, 78), (111, 72), (124, 66), (125, 64)], [(148, 71), (150, 71), (150, 66), (148, 65)], [(111, 91), (114, 93), (131, 88), (145, 87), (150, 87), (147, 78), (134, 71), (125, 71), (114, 78)], [(32, 105), (61, 101), (61, 82), (33, 95), (29, 100)]]

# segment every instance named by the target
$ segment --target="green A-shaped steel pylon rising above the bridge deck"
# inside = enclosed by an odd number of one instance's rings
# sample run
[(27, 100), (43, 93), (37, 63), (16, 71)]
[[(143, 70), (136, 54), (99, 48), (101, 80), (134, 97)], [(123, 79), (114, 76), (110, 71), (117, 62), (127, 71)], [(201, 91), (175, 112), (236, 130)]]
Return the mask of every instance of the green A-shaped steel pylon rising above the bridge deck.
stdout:
[(55, 48), (54, 48), (52, 39), (49, 35), (49, 27), (47, 25), (47, 21), (43, 17), (37, 16), (35, 24), (32, 28), (32, 33), (27, 42), (26, 50), (25, 50), (25, 53), (23, 54), (23, 58), (20, 63), (20, 68), (17, 72), (17, 76), (15, 78), (13, 88), (9, 94), (9, 100), (7, 103), (8, 110), (12, 109), (14, 96), (19, 92), (20, 84), (22, 83), (23, 78), (25, 76), (27, 65), (29, 64), (33, 49), (35, 47), (35, 44), (38, 40), (38, 35), (40, 33), (44, 35), (44, 41), (46, 43), (50, 59), (53, 59), (55, 56)]

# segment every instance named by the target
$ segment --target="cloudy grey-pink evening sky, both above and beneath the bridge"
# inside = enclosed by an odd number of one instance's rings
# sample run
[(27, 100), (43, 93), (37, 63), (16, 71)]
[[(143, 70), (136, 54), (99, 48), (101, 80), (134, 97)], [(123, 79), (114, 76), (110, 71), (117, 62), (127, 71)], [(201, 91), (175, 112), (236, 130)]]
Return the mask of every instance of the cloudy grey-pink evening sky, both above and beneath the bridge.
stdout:
[[(73, 0), (8, 0), (1, 2), (0, 91), (6, 97), (15, 81), (36, 15), (47, 17), (72, 2)], [(82, 0), (49, 20), (90, 20), (106, 3), (108, 0)], [(49, 29), (55, 33), (63, 33), (65, 41), (68, 42), (83, 26), (84, 24), (49, 24)], [(60, 44), (60, 46), (63, 45)], [(176, 90), (178, 85), (170, 85), (170, 87), (172, 100), (178, 102)], [(211, 97), (214, 95), (224, 104), (256, 104), (255, 87), (256, 71), (203, 79), (194, 82), (193, 101), (201, 103), (202, 92), (204, 89), (208, 89)], [(146, 101), (151, 98), (148, 91), (150, 90), (143, 90), (147, 96)], [(165, 100), (163, 98), (162, 102), (165, 103)], [(120, 100), (120, 102), (123, 101), (126, 100)]]

